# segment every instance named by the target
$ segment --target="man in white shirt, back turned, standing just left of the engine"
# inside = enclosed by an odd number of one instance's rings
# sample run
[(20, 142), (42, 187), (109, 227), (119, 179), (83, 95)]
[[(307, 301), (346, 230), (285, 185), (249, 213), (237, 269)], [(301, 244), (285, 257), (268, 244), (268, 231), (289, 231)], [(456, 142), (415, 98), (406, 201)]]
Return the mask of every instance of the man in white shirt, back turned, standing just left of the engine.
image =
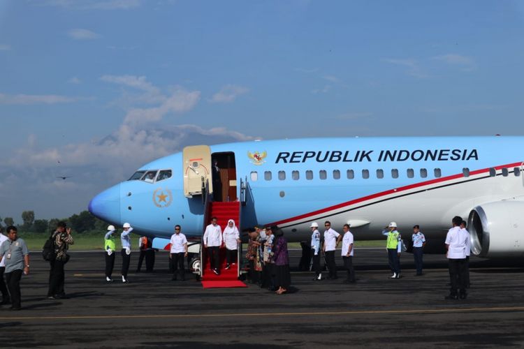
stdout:
[[(465, 299), (466, 285), (465, 285), (465, 265), (466, 265), (466, 245), (469, 237), (460, 229), (460, 223), (463, 219), (459, 216), (454, 216), (451, 221), (453, 228), (448, 231), (446, 235), (446, 248), (448, 250), (447, 258), (449, 260), (449, 278), (451, 281), (451, 289), (449, 295), (445, 299)], [(457, 290), (460, 290), (460, 295), (457, 295)]]

